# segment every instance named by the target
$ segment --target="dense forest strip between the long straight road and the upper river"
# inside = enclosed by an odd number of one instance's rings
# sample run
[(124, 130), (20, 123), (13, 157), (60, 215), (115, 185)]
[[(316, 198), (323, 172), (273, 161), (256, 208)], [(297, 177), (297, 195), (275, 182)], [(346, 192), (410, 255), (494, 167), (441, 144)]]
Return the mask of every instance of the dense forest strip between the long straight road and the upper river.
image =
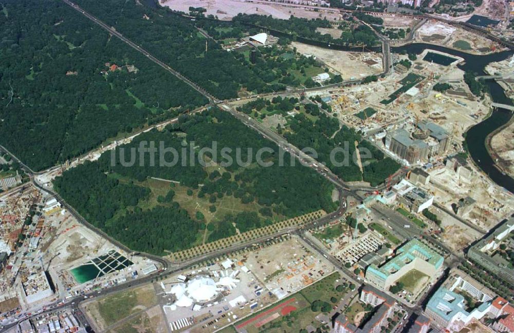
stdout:
[(219, 99), (237, 97), (242, 87), (257, 93), (284, 89), (266, 84), (217, 42), (206, 40), (193, 25), (196, 22), (167, 9), (138, 5), (134, 0), (77, 3)]

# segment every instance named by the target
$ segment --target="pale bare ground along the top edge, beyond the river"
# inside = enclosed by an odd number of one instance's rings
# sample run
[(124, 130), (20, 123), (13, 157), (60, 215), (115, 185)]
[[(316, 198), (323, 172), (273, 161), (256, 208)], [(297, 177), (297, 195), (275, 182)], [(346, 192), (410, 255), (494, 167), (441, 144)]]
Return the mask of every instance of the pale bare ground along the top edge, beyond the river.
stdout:
[(301, 8), (291, 8), (278, 5), (252, 4), (236, 0), (161, 0), (162, 6), (170, 7), (173, 10), (189, 12), (189, 7), (204, 7), (206, 15), (218, 16), (220, 20), (231, 20), (238, 13), (272, 15), (277, 19), (289, 19), (291, 15), (316, 19), (326, 17), (327, 20), (341, 20), (342, 15), (329, 12), (315, 12)]

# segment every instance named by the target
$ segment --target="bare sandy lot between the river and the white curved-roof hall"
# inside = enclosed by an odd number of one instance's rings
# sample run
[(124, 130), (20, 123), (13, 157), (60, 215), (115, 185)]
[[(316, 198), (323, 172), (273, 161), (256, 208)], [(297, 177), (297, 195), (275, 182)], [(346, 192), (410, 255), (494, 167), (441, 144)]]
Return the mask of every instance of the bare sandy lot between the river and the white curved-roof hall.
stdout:
[[(339, 72), (343, 80), (366, 77), (382, 72), (382, 57), (379, 54), (369, 52), (360, 54), (329, 50), (317, 46), (311, 46), (298, 42), (292, 43), (301, 54), (316, 56), (316, 59)], [(368, 61), (369, 63), (366, 63)], [(374, 63), (374, 64), (371, 64)]]

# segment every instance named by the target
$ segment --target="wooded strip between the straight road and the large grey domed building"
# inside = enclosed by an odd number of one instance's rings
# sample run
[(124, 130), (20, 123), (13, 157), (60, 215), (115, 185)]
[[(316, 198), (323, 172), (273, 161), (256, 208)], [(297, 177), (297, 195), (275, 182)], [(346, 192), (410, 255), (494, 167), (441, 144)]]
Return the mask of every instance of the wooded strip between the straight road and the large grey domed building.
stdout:
[[(303, 149), (314, 148), (318, 154), (317, 160), (325, 163), (338, 177), (344, 181), (370, 182), (372, 186), (382, 183), (387, 177), (396, 172), (400, 165), (384, 154), (362, 136), (346, 126), (339, 126), (335, 117), (327, 116), (330, 106), (322, 102), (317, 96), (313, 98), (315, 103), (299, 103), (298, 99), (273, 98), (271, 101), (257, 99), (238, 108), (238, 111), (251, 114), (257, 118), (263, 118), (272, 114), (280, 114), (287, 119), (287, 126), (277, 128), (289, 143)], [(291, 117), (287, 112), (295, 110), (297, 114)], [(324, 111), (324, 112), (323, 112)], [(367, 149), (370, 154), (362, 156), (363, 172), (353, 161), (355, 154), (355, 142), (359, 149)], [(335, 148), (345, 151), (335, 154), (336, 162), (347, 163), (337, 166), (331, 163), (331, 152)], [(367, 162), (367, 163), (365, 163)]]

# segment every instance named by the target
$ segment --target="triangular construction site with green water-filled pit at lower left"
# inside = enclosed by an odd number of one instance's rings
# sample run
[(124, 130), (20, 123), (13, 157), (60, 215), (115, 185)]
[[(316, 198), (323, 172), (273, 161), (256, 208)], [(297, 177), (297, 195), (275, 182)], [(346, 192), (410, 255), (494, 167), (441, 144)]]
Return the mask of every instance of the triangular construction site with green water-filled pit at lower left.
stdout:
[[(0, 197), (0, 220), (3, 316), (106, 288), (158, 269), (150, 260), (117, 249), (80, 224), (56, 199), (42, 195), (31, 185)], [(108, 259), (104, 260), (109, 261), (108, 266), (102, 267), (98, 261), (101, 272), (92, 272), (95, 257), (118, 252), (124, 253), (118, 254), (119, 267), (113, 266), (116, 261)], [(74, 274), (73, 269), (88, 261), (89, 278)]]

